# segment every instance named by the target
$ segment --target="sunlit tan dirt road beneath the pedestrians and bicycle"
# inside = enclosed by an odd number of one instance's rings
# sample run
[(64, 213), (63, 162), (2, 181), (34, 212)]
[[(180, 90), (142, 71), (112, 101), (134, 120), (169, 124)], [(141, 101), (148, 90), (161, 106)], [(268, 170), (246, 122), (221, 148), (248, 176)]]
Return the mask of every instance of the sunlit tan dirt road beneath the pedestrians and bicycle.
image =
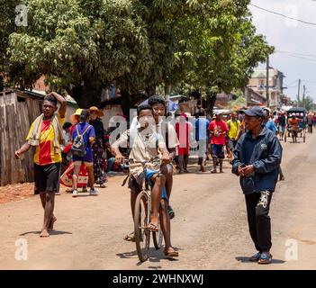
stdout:
[[(129, 192), (121, 187), (123, 176), (117, 176), (96, 197), (57, 196), (58, 221), (50, 238), (39, 237), (43, 211), (38, 197), (0, 205), (0, 268), (315, 269), (316, 135), (307, 135), (305, 144), (283, 146), (286, 179), (277, 185), (271, 206), (271, 266), (246, 261), (255, 249), (239, 179), (226, 164), (222, 175), (200, 174), (191, 166), (191, 174), (175, 176), (172, 241), (180, 252), (177, 260), (152, 251), (149, 261), (139, 263), (134, 243), (122, 239), (131, 232), (132, 220)], [(14, 258), (19, 238), (27, 243), (26, 261)]]

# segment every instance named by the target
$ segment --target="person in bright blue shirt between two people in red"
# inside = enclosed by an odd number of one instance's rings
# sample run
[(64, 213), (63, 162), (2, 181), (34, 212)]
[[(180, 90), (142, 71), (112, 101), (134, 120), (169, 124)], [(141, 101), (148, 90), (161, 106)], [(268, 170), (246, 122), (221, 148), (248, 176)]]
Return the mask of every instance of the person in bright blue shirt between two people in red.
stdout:
[(210, 121), (206, 119), (205, 115), (205, 110), (201, 108), (197, 113), (198, 118), (195, 120), (195, 140), (198, 144), (199, 165), (202, 172), (206, 172), (204, 164), (208, 145), (208, 128), (210, 125)]

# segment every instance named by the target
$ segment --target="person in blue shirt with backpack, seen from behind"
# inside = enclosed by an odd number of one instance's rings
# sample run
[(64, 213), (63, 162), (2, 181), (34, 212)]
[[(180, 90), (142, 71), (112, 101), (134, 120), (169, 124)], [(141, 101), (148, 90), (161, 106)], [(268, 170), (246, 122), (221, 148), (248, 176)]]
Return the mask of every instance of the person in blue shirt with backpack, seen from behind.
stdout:
[(80, 171), (80, 166), (84, 164), (89, 177), (90, 195), (96, 195), (95, 177), (94, 177), (94, 162), (91, 145), (95, 141), (95, 129), (88, 124), (90, 112), (83, 110), (80, 114), (79, 122), (74, 128), (72, 139), (73, 146), (71, 152), (74, 161), (74, 174), (72, 175), (72, 195), (77, 197), (77, 180)]

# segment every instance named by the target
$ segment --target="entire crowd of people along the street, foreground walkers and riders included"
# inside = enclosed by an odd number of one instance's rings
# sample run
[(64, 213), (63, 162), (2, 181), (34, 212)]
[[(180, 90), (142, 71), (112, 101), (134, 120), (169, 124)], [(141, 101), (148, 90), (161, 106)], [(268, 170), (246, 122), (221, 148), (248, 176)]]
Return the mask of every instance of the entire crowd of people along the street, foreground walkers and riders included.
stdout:
[[(206, 161), (211, 158), (210, 172), (223, 173), (227, 156), (232, 172), (240, 176), (246, 196), (250, 235), (258, 251), (251, 259), (261, 264), (270, 263), (269, 204), (278, 177), (284, 180), (279, 141), (284, 139), (287, 130), (292, 133), (293, 142), (300, 129), (308, 127), (311, 133), (316, 123), (315, 113), (308, 112), (305, 116), (271, 112), (268, 108), (243, 107), (225, 115), (214, 112), (211, 119), (199, 107), (194, 116), (175, 112), (166, 118), (166, 114), (165, 100), (151, 96), (147, 104), (138, 106), (137, 116), (128, 130), (120, 130), (120, 125), (116, 125), (106, 131), (101, 120), (104, 112), (97, 107), (77, 109), (70, 117), (71, 122), (65, 122), (65, 99), (54, 92), (47, 95), (42, 114), (32, 123), (26, 143), (15, 152), (15, 157), (20, 158), (35, 147), (35, 193), (41, 195), (45, 211), (41, 237), (50, 236), (49, 231), (57, 220), (53, 211), (55, 193), (59, 192), (60, 170), (63, 175), (70, 175), (69, 192), (77, 197), (80, 171), (85, 169), (88, 181), (84, 184), (84, 191), (88, 185), (89, 193), (96, 195), (95, 184), (105, 187), (106, 174), (113, 169), (122, 171), (120, 167), (128, 161), (133, 219), (136, 197), (143, 179), (146, 179), (151, 186), (152, 198), (147, 229), (157, 232), (160, 219), (165, 238), (164, 253), (168, 257), (178, 257), (170, 238), (170, 220), (175, 217), (170, 205), (173, 175), (190, 173), (188, 163), (191, 155), (197, 156), (201, 173), (207, 171)], [(145, 174), (140, 163), (147, 163)], [(161, 202), (162, 199), (167, 201), (167, 206)], [(135, 235), (131, 232), (124, 239), (134, 241)]]

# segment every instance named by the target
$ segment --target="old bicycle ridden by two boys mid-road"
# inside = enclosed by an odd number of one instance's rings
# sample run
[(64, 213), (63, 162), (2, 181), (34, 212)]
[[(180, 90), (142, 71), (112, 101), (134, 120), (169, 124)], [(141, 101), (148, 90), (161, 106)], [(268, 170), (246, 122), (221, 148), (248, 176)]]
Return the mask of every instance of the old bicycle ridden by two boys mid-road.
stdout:
[[(128, 165), (122, 165), (122, 169), (130, 168), (131, 161)], [(152, 162), (152, 161), (150, 161)], [(146, 175), (146, 164), (149, 162), (138, 162), (142, 165), (142, 173)], [(158, 250), (162, 246), (163, 233), (160, 227), (160, 217), (158, 215), (158, 232), (150, 231), (147, 227), (150, 221), (151, 215), (151, 189), (149, 188), (149, 181), (145, 176), (142, 177), (142, 183), (140, 186), (140, 193), (138, 194), (135, 202), (134, 210), (134, 235), (135, 244), (138, 257), (141, 262), (145, 262), (149, 258), (149, 246), (150, 246), (150, 232), (152, 232), (152, 238), (154, 247)], [(167, 199), (162, 199), (164, 206), (167, 209)]]

